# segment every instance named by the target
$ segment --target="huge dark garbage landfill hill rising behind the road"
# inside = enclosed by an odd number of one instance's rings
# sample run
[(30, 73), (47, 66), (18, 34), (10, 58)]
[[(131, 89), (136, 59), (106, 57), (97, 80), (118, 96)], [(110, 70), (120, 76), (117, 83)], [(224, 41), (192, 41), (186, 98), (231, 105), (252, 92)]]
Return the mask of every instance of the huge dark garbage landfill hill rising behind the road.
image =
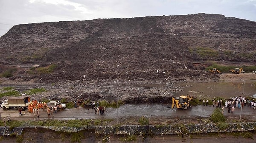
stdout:
[(203, 70), (206, 61), (255, 63), (255, 29), (253, 21), (204, 13), (20, 24), (0, 38), (0, 73), (15, 68), (12, 79), (45, 83), (218, 80)]

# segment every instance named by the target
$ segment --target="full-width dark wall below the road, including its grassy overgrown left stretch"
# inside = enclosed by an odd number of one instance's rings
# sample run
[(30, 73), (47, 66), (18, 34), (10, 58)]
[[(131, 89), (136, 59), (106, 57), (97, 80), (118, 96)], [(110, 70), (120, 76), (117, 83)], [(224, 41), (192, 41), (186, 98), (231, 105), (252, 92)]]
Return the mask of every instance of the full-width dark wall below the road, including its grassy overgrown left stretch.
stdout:
[(79, 132), (82, 130), (95, 130), (100, 135), (171, 135), (195, 134), (211, 132), (255, 131), (256, 122), (251, 123), (216, 123), (216, 124), (174, 124), (174, 125), (124, 125), (124, 126), (26, 126), (26, 127), (0, 127), (0, 135), (20, 135), (24, 128), (46, 128), (59, 132)]

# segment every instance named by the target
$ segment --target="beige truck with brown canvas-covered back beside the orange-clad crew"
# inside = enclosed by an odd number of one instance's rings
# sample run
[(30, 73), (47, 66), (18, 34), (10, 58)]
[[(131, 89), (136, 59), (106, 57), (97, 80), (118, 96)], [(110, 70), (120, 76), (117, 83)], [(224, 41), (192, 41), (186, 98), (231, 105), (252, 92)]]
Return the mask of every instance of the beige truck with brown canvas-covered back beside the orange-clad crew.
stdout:
[(16, 96), (16, 97), (9, 97), (6, 99), (1, 107), (3, 110), (11, 109), (11, 108), (17, 108), (19, 109), (26, 109), (29, 104), (31, 104), (30, 97), (24, 97), (24, 96)]

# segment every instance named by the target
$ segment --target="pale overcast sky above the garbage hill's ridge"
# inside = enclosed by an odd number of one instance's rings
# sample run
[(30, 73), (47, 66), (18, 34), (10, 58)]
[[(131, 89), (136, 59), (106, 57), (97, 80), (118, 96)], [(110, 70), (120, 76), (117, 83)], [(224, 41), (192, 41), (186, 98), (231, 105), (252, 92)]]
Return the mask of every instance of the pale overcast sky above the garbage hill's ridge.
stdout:
[(256, 21), (256, 0), (0, 0), (0, 36), (26, 23), (197, 13)]

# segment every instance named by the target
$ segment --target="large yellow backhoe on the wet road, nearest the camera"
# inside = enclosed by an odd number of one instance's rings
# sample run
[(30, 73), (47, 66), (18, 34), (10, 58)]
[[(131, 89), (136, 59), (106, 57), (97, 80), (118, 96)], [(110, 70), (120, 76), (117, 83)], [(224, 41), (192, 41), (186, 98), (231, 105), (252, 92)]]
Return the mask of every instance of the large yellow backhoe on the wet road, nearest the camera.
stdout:
[(181, 95), (179, 98), (173, 97), (172, 98), (172, 108), (174, 108), (174, 105), (176, 105), (177, 108), (180, 109), (187, 109), (188, 107), (191, 107), (191, 104), (189, 104), (189, 101), (193, 99), (193, 97), (184, 96)]

